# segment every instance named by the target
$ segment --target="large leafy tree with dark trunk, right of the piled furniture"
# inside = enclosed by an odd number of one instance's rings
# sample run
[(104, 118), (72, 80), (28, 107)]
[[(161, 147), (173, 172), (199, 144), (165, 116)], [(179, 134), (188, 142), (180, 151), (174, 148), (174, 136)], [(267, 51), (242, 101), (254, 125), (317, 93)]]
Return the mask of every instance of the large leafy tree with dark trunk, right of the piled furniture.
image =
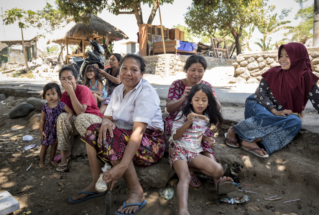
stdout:
[(258, 26), (272, 8), (263, 0), (193, 0), (185, 14), (185, 23), (196, 35), (216, 37), (218, 32), (224, 38), (231, 33), (239, 55), (243, 28), (251, 24)]

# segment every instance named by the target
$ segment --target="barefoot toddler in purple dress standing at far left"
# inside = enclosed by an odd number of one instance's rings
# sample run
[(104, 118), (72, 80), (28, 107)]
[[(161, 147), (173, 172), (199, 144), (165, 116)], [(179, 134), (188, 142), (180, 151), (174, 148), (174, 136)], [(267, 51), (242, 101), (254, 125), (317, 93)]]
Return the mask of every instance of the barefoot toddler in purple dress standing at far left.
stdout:
[(65, 126), (69, 124), (69, 119), (73, 116), (73, 111), (66, 106), (65, 103), (59, 101), (62, 93), (59, 85), (56, 82), (51, 82), (43, 87), (42, 97), (48, 101), (41, 108), (40, 133), (41, 133), (41, 151), (40, 151), (40, 168), (45, 169), (45, 156), (49, 145), (50, 150), (50, 164), (56, 166), (57, 163), (53, 160), (56, 154), (56, 119), (58, 116), (67, 112), (65, 118)]

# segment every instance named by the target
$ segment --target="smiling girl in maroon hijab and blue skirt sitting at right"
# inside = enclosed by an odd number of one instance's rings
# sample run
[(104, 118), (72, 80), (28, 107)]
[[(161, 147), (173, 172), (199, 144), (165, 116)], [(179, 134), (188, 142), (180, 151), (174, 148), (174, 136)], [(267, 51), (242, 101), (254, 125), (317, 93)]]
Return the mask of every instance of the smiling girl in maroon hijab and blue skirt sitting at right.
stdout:
[(297, 42), (281, 45), (278, 59), (280, 66), (263, 73), (255, 94), (246, 99), (245, 120), (225, 135), (228, 146), (240, 147), (237, 134), (243, 149), (261, 158), (297, 135), (308, 99), (319, 110), (319, 78), (312, 73), (306, 47)]

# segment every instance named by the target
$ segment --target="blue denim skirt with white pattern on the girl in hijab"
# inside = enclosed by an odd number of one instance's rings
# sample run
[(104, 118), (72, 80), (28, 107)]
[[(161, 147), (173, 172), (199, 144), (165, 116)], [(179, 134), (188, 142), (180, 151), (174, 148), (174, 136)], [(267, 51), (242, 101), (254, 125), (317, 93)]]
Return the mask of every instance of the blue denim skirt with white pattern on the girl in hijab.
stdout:
[(295, 115), (273, 115), (258, 103), (252, 94), (246, 99), (245, 120), (233, 128), (242, 140), (253, 142), (261, 138), (260, 144), (271, 154), (288, 145), (296, 137), (301, 128), (301, 120)]

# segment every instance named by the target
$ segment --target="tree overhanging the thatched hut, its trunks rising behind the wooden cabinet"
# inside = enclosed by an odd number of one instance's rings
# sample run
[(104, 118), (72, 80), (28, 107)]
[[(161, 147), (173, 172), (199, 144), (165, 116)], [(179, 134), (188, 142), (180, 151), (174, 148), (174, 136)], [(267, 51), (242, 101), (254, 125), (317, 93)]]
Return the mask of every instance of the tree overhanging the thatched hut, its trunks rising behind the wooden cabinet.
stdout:
[[(159, 4), (164, 3), (173, 4), (174, 0), (159, 0)], [(97, 15), (104, 9), (109, 12), (119, 14), (134, 14), (137, 20), (137, 25), (143, 24), (141, 4), (148, 4), (149, 7), (152, 5), (152, 11), (147, 21), (147, 24), (152, 24), (158, 9), (157, 0), (56, 0), (58, 10), (62, 11), (63, 14), (74, 17), (75, 22), (83, 22), (87, 24), (90, 20), (90, 15)]]

